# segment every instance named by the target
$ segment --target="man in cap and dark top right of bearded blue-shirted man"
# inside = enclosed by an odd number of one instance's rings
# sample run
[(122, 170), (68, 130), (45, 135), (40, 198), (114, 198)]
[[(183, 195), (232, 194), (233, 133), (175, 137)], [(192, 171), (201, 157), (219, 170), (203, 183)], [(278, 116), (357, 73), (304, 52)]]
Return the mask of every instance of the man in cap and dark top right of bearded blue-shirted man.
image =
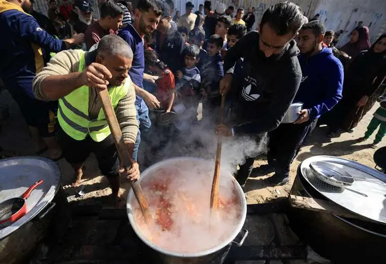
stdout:
[(172, 17), (168, 5), (159, 0), (157, 3), (162, 9), (162, 16), (155, 32), (155, 51), (158, 53), (159, 60), (176, 73), (183, 67), (182, 52), (185, 48), (185, 40), (170, 24)]

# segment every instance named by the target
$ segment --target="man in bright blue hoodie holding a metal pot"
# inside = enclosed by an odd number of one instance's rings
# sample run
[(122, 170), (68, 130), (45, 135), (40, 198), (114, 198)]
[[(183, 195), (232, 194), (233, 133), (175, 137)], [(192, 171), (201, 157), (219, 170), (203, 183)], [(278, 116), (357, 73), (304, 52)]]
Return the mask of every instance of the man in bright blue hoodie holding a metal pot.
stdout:
[(267, 179), (270, 184), (288, 182), (289, 166), (317, 119), (342, 98), (343, 66), (331, 49), (322, 47), (325, 31), (325, 25), (318, 20), (305, 24), (299, 31), (298, 59), (303, 77), (294, 102), (304, 105), (294, 123), (282, 123), (269, 133), (268, 164), (259, 170), (262, 174), (275, 171)]

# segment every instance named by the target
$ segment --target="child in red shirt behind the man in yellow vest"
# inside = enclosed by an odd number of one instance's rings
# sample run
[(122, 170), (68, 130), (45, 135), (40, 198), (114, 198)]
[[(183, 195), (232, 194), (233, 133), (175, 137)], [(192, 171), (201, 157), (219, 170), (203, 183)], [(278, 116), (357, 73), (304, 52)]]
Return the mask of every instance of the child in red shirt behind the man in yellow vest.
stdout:
[(159, 76), (159, 79), (155, 82), (157, 85), (155, 97), (160, 102), (161, 108), (165, 109), (166, 112), (170, 112), (173, 107), (176, 88), (174, 74), (164, 62), (158, 59), (154, 51), (145, 50), (144, 55), (147, 68)]

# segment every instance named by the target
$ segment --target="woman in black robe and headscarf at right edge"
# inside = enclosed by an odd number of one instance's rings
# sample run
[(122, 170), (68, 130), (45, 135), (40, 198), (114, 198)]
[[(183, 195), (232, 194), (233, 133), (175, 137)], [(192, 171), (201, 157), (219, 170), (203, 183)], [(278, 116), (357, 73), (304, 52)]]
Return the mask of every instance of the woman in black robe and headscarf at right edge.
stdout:
[(329, 114), (328, 137), (335, 137), (342, 127), (349, 132), (369, 111), (386, 76), (386, 34), (380, 36), (368, 51), (362, 51), (349, 65), (344, 78), (343, 97)]

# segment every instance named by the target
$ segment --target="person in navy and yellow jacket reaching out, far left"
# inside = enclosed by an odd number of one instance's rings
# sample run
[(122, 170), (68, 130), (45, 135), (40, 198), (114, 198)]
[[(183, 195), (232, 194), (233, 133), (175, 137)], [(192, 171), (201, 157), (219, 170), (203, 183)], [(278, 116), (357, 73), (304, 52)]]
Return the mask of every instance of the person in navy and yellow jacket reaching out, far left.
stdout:
[(54, 138), (55, 103), (36, 100), (32, 80), (50, 58), (50, 52), (69, 49), (83, 42), (83, 34), (71, 39), (57, 40), (26, 12), (29, 0), (0, 0), (0, 28), (7, 36), (0, 42), (4, 51), (0, 59), (0, 78), (19, 105), (35, 151), (43, 153), (48, 147), (50, 158), (60, 158), (61, 151)]

